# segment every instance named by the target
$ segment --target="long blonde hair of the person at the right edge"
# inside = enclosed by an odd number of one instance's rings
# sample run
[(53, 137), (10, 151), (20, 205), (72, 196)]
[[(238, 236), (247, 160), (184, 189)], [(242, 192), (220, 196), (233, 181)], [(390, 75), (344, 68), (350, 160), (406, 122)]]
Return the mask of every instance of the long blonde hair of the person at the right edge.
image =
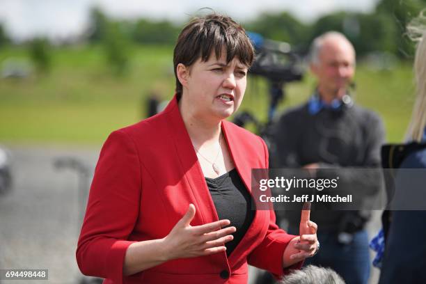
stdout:
[(426, 15), (423, 10), (413, 19), (407, 31), (412, 40), (418, 42), (414, 58), (414, 77), (416, 80), (416, 102), (414, 103), (407, 138), (420, 142), (426, 127)]

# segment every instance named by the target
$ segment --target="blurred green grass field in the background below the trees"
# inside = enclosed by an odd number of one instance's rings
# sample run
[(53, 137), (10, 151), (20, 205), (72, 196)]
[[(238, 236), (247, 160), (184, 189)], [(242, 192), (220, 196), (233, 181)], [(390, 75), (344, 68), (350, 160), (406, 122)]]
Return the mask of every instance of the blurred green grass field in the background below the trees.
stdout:
[[(0, 79), (0, 143), (99, 145), (113, 129), (141, 120), (150, 90), (173, 95), (173, 48), (134, 47), (130, 54), (125, 77), (113, 75), (95, 46), (52, 50), (49, 74)], [(6, 58), (29, 60), (24, 48), (0, 49), (0, 64)], [(410, 64), (376, 71), (360, 63), (356, 84), (356, 102), (384, 118), (388, 141), (402, 141), (413, 106)], [(310, 76), (288, 84), (280, 111), (306, 100), (314, 86)], [(267, 104), (265, 80), (249, 78), (241, 109), (265, 120)]]

